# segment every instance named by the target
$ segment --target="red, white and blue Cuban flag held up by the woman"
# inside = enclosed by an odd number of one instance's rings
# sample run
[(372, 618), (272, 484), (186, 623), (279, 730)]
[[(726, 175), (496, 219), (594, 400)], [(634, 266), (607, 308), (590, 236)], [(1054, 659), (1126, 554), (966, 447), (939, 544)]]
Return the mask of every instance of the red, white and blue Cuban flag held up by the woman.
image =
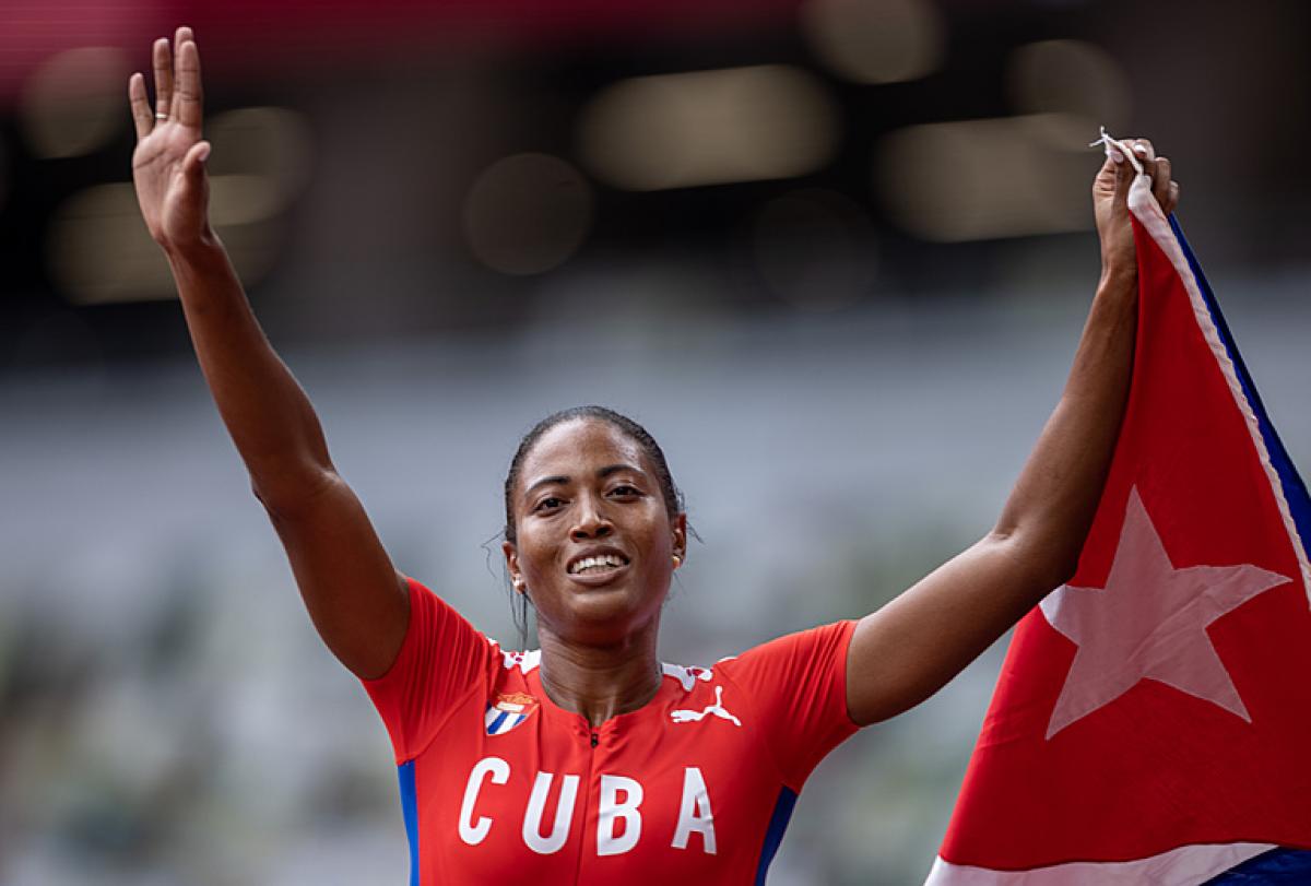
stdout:
[(1311, 502), (1139, 177), (1133, 385), (1016, 628), (928, 886), (1311, 883)]

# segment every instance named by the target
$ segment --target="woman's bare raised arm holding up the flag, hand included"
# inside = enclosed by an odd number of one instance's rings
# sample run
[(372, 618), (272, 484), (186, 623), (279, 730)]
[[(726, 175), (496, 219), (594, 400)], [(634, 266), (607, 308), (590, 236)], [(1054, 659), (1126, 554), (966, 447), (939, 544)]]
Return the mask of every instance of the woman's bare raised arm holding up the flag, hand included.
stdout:
[[(1167, 214), (1169, 161), (1129, 142)], [(847, 709), (873, 723), (919, 704), (1067, 581), (1101, 498), (1129, 397), (1138, 270), (1127, 195), (1134, 170), (1108, 159), (1093, 182), (1101, 280), (1055, 412), (991, 532), (856, 626)]]

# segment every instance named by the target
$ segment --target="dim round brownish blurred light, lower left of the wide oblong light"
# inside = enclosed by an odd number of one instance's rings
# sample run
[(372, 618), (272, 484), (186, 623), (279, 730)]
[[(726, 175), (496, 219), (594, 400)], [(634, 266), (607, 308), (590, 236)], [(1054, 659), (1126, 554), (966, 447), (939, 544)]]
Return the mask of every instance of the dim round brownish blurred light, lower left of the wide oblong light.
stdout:
[(540, 274), (561, 265), (586, 239), (591, 218), (587, 180), (545, 153), (497, 160), (464, 199), (469, 250), (503, 274)]

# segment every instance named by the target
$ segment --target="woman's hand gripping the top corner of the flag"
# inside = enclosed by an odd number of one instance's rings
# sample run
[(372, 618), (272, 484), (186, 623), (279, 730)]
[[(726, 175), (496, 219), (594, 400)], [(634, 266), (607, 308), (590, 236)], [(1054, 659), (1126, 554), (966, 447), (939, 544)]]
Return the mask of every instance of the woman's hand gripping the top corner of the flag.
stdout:
[[(1147, 139), (1122, 139), (1134, 149), (1143, 172), (1151, 176), (1152, 195), (1160, 208), (1169, 215), (1179, 204), (1179, 182), (1169, 177), (1171, 165), (1167, 157), (1158, 157), (1156, 149)], [(1120, 149), (1110, 147), (1112, 155), (1120, 156)], [(1116, 161), (1106, 157), (1092, 182), (1092, 208), (1097, 220), (1097, 236), (1101, 239), (1101, 273), (1138, 273), (1134, 256), (1134, 229), (1129, 222), (1129, 186), (1133, 185), (1134, 166), (1129, 160)]]

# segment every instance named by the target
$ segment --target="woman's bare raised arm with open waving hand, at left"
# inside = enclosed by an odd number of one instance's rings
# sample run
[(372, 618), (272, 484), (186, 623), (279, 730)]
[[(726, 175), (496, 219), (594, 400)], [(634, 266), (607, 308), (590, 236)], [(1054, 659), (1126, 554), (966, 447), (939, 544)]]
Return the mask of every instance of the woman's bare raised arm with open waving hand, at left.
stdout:
[(128, 80), (142, 215), (168, 257), (201, 370), (319, 634), (357, 675), (379, 676), (408, 625), (404, 578), (333, 468), (309, 400), (269, 346), (210, 228), (210, 144), (201, 139), (201, 55), (191, 30), (180, 28), (172, 48), (156, 41), (152, 62), (153, 111), (144, 77)]

